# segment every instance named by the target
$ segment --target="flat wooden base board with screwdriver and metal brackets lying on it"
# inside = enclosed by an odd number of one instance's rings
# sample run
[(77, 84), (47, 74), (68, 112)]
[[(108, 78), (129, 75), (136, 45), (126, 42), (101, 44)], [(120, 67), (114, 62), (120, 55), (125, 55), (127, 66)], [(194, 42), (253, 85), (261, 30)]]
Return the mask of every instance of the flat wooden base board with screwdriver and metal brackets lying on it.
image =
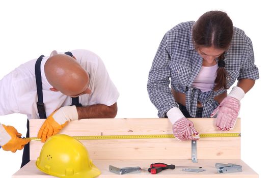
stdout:
[[(176, 169), (168, 169), (163, 170), (159, 172), (158, 174), (150, 174), (147, 171), (142, 171), (141, 173), (130, 173), (130, 174), (123, 174), (118, 175), (113, 172), (110, 172), (108, 169), (109, 165), (113, 165), (116, 167), (133, 167), (133, 166), (140, 166), (141, 168), (147, 168), (151, 163), (155, 162), (163, 162), (167, 164), (174, 164), (176, 166), (201, 166), (203, 169), (206, 169), (204, 172), (184, 172), (181, 170), (181, 168)], [(215, 163), (233, 163), (242, 165), (242, 172), (234, 172), (234, 173), (216, 173)], [(154, 160), (93, 160), (93, 163), (99, 168), (101, 171), (101, 175), (98, 176), (98, 178), (112, 178), (112, 177), (130, 177), (130, 178), (165, 178), (165, 177), (171, 177), (171, 178), (177, 178), (177, 177), (183, 177), (183, 178), (194, 178), (194, 177), (200, 177), (200, 178), (216, 178), (216, 177), (225, 177), (225, 178), (258, 178), (258, 174), (252, 170), (247, 164), (245, 164), (240, 159), (216, 159), (216, 160), (199, 160), (198, 163), (193, 163), (190, 160), (161, 160), (161, 159), (154, 159)], [(18, 170), (15, 174), (13, 174), (12, 178), (51, 178), (54, 176), (47, 175), (40, 170), (38, 170), (35, 166), (35, 161), (29, 162), (27, 165), (25, 165), (23, 168)]]

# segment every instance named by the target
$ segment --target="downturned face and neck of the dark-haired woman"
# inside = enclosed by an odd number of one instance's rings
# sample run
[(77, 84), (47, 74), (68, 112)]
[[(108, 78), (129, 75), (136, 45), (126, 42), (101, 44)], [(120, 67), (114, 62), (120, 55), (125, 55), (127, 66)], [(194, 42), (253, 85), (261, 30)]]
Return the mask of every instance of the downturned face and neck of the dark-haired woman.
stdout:
[(214, 47), (199, 47), (198, 54), (203, 58), (203, 63), (214, 65), (215, 59), (225, 52), (224, 49), (216, 49)]

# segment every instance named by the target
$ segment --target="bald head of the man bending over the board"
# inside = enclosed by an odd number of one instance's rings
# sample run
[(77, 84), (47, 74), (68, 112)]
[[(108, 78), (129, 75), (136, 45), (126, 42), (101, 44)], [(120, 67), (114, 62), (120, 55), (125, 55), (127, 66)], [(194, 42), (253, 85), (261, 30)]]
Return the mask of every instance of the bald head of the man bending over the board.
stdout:
[(48, 58), (44, 66), (45, 76), (52, 88), (64, 95), (77, 97), (90, 94), (90, 75), (75, 60), (66, 54), (55, 54)]

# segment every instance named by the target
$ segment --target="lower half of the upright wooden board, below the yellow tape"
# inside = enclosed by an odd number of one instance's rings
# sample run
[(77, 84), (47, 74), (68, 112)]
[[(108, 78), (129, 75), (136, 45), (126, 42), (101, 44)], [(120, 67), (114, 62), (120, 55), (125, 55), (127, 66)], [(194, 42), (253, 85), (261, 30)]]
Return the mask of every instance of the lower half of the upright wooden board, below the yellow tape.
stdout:
[[(173, 139), (80, 140), (94, 160), (190, 159), (190, 141)], [(31, 160), (36, 160), (42, 144), (32, 142)], [(240, 140), (197, 142), (198, 159), (238, 159)], [(160, 154), (159, 154), (160, 153)]]

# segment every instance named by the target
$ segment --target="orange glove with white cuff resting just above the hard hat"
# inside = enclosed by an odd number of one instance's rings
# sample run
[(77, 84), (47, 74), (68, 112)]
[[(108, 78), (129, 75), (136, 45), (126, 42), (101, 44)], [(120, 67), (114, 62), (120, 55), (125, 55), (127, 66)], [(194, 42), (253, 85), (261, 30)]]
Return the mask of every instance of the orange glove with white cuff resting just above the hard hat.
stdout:
[(37, 137), (45, 142), (50, 136), (59, 133), (72, 120), (78, 120), (76, 106), (61, 107), (47, 117)]

